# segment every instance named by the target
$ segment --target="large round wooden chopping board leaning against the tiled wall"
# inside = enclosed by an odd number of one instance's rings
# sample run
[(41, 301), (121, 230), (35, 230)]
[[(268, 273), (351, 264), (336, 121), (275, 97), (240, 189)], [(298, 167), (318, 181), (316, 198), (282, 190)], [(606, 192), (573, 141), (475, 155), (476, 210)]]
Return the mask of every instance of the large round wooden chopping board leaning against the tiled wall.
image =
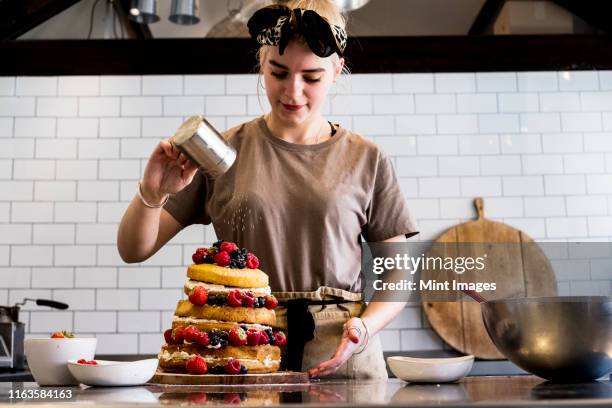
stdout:
[[(497, 283), (495, 292), (481, 293), (489, 300), (556, 296), (555, 274), (542, 249), (524, 232), (486, 219), (482, 198), (476, 198), (474, 206), (478, 213), (475, 221), (450, 228), (435, 241), (446, 243), (444, 245), (446, 256), (478, 256), (491, 251), (500, 252), (500, 249), (503, 249), (503, 253), (489, 255), (486, 269), (478, 272), (478, 279), (471, 280)], [(460, 243), (478, 244), (453, 245)], [(495, 243), (517, 245), (496, 246)], [(520, 243), (531, 244), (518, 245)], [(436, 273), (423, 271), (421, 279), (436, 279), (439, 276), (439, 272), (436, 276)], [(489, 338), (477, 302), (465, 299), (461, 302), (424, 301), (423, 309), (433, 329), (456, 350), (487, 360), (505, 358)]]

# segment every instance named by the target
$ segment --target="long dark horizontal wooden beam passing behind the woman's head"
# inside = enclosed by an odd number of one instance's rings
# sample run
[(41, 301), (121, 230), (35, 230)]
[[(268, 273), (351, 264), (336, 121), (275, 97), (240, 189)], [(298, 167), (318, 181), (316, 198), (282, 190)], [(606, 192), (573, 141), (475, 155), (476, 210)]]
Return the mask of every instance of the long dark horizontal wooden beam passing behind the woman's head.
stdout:
[[(247, 74), (248, 38), (0, 41), (0, 76)], [(353, 73), (612, 69), (611, 35), (351, 38)]]

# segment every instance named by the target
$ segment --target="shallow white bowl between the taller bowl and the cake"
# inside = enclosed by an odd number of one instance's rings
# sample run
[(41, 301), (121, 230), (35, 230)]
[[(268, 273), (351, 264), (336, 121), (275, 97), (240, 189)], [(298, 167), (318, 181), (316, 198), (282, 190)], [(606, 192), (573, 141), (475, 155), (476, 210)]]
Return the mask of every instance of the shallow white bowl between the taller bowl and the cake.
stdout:
[(153, 377), (157, 359), (138, 361), (96, 360), (98, 364), (79, 364), (68, 361), (68, 370), (85, 385), (118, 386), (141, 385)]

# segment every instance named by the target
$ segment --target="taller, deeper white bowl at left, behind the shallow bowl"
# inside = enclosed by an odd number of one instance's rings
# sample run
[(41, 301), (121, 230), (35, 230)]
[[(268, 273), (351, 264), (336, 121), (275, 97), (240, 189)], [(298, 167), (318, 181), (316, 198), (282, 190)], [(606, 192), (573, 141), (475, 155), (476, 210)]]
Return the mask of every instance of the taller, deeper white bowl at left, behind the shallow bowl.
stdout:
[(93, 337), (26, 339), (25, 355), (34, 380), (39, 385), (78, 385), (66, 363), (80, 358), (92, 360), (97, 342)]

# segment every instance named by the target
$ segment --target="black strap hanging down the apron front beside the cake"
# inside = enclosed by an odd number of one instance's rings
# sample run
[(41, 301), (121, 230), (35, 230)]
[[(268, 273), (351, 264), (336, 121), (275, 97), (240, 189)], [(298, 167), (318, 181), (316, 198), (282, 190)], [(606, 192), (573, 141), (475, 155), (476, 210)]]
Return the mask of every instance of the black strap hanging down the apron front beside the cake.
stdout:
[(302, 371), (304, 344), (314, 339), (314, 318), (308, 304), (308, 299), (287, 301), (287, 369), (291, 371)]

